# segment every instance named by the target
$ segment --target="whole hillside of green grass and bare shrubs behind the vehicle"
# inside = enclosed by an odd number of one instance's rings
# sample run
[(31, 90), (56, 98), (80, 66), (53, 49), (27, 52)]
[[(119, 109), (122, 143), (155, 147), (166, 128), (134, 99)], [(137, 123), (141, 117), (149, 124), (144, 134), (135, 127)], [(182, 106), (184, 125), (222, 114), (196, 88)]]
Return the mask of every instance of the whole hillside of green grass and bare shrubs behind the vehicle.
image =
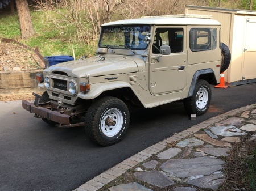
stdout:
[[(143, 0), (138, 4), (135, 1), (123, 0), (120, 1), (122, 3), (119, 5), (111, 5), (110, 2), (115, 3), (119, 1), (106, 0), (106, 2), (110, 3), (108, 4), (110, 6), (108, 9), (106, 9), (106, 5), (101, 5), (101, 7), (96, 9), (96, 4), (93, 5), (92, 3), (97, 1), (65, 0), (64, 2), (67, 3), (66, 6), (57, 3), (53, 7), (44, 7), (46, 5), (40, 5), (40, 7), (32, 6), (30, 14), (35, 35), (30, 39), (20, 39), (19, 41), (31, 48), (37, 46), (43, 56), (73, 56), (74, 52), (76, 59), (84, 55), (90, 57), (96, 51), (98, 33), (102, 23), (112, 20), (139, 18), (141, 16), (184, 14), (185, 4), (212, 7), (220, 6), (228, 9), (249, 9), (251, 1), (159, 0), (156, 2), (154, 0)], [(80, 4), (76, 5), (76, 3)], [(134, 9), (134, 7), (138, 7), (138, 9)], [(256, 10), (256, 0), (253, 0), (252, 7), (253, 10)], [(19, 19), (16, 12), (11, 14), (10, 11), (5, 11), (3, 14), (0, 9), (1, 37), (19, 39)]]

